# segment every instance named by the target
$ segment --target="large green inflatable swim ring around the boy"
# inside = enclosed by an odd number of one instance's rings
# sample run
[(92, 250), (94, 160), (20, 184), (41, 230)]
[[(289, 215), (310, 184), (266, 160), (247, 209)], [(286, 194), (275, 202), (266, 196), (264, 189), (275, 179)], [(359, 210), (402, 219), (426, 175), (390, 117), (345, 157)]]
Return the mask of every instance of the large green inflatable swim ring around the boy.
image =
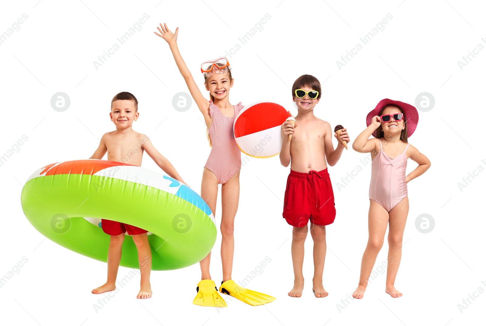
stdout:
[[(139, 166), (106, 160), (49, 164), (31, 175), (20, 201), (29, 222), (46, 238), (106, 262), (110, 236), (101, 219), (150, 231), (152, 270), (197, 263), (216, 241), (206, 202), (177, 180)], [(123, 241), (121, 266), (139, 268), (131, 236)]]

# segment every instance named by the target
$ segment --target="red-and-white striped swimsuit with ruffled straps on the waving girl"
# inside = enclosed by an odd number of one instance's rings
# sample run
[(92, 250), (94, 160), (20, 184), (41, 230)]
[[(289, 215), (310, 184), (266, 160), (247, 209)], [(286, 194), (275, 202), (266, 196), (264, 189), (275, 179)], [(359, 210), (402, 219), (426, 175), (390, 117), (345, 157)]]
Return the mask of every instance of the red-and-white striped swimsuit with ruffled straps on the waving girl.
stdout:
[(242, 152), (235, 141), (233, 122), (243, 105), (240, 102), (234, 107), (234, 116), (228, 118), (209, 100), (209, 114), (213, 118), (209, 128), (212, 148), (206, 162), (206, 168), (216, 175), (220, 184), (225, 184), (233, 175), (240, 171), (242, 166)]

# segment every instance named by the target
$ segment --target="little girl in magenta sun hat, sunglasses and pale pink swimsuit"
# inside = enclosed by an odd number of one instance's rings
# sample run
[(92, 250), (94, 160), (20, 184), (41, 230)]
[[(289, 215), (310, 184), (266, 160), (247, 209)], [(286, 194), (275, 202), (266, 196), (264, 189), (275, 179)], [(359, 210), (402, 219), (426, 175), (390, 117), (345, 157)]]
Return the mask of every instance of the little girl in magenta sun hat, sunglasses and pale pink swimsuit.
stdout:
[[(353, 149), (371, 153), (371, 183), (369, 186), (368, 243), (361, 261), (358, 288), (353, 298), (363, 298), (368, 278), (388, 231), (388, 267), (385, 292), (394, 298), (402, 296), (395, 288), (395, 278), (401, 259), (403, 231), (408, 215), (407, 183), (430, 168), (429, 159), (408, 143), (418, 122), (417, 109), (407, 103), (384, 99), (368, 113), (364, 131), (356, 137)], [(371, 135), (374, 138), (368, 139)], [(405, 173), (407, 160), (417, 162), (417, 168)]]

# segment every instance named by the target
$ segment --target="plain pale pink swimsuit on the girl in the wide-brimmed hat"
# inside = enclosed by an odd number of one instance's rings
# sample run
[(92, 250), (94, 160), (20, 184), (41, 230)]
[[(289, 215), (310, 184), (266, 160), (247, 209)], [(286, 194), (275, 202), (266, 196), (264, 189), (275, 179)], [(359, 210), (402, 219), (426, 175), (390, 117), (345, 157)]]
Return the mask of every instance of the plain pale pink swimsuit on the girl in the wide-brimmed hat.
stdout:
[(387, 212), (390, 212), (403, 198), (407, 197), (407, 184), (405, 183), (407, 155), (405, 152), (408, 146), (409, 144), (402, 154), (391, 158), (383, 152), (380, 140), (380, 152), (371, 162), (369, 199), (380, 204)]

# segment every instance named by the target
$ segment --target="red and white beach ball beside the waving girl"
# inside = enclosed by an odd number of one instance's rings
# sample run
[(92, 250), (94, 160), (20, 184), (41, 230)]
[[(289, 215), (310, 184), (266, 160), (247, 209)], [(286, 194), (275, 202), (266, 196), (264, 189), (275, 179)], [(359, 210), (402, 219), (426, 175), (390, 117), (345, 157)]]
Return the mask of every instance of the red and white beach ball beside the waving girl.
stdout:
[(236, 116), (233, 130), (240, 150), (253, 157), (271, 157), (280, 153), (280, 126), (290, 117), (276, 103), (258, 102), (245, 106)]

